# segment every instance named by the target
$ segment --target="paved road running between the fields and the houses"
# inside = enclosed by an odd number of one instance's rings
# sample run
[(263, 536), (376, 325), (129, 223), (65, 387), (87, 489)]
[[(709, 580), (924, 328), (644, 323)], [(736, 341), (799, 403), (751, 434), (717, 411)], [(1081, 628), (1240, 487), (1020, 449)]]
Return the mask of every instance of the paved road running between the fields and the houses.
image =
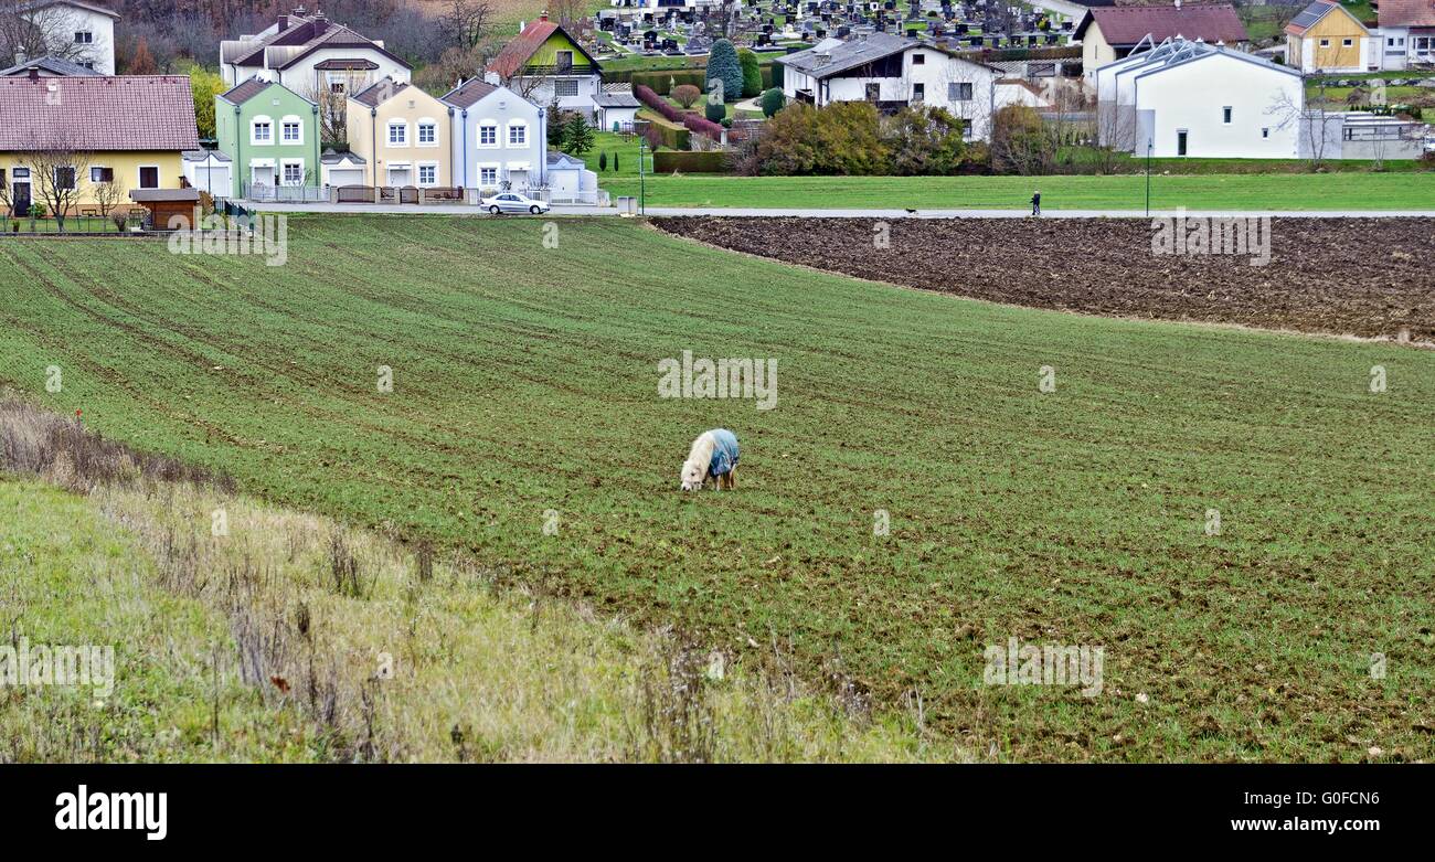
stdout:
[[(468, 205), (375, 205), (375, 204), (251, 204), (264, 212), (369, 212), (369, 214), (442, 214), (486, 215)], [(554, 207), (550, 215), (617, 215), (613, 207)], [(649, 207), (649, 215), (732, 215), (799, 218), (1027, 218), (1026, 209), (748, 209), (728, 207)], [(1177, 209), (1048, 209), (1042, 218), (1154, 218), (1175, 217)], [(1187, 217), (1258, 217), (1276, 218), (1435, 218), (1435, 209), (1187, 209)], [(531, 218), (509, 215), (507, 218)]]

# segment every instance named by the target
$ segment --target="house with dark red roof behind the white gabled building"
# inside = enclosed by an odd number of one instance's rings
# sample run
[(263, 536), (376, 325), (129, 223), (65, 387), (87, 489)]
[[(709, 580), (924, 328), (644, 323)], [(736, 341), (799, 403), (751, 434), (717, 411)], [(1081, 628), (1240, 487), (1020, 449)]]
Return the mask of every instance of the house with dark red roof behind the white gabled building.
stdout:
[(1246, 50), (1250, 36), (1230, 3), (1181, 3), (1172, 6), (1108, 6), (1086, 10), (1072, 33), (1081, 42), (1082, 67), (1088, 76), (1129, 55), (1145, 37), (1155, 42), (1182, 37)]

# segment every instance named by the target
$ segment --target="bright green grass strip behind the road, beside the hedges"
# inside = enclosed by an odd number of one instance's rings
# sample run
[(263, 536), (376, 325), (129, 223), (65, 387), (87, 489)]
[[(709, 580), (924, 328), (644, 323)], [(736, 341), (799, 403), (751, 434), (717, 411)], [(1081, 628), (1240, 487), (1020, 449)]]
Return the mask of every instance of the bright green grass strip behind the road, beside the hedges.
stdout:
[[(601, 182), (637, 195), (637, 179)], [(649, 207), (815, 209), (1142, 209), (1144, 175), (1115, 176), (650, 176)], [(1152, 175), (1152, 209), (1432, 209), (1435, 174)]]

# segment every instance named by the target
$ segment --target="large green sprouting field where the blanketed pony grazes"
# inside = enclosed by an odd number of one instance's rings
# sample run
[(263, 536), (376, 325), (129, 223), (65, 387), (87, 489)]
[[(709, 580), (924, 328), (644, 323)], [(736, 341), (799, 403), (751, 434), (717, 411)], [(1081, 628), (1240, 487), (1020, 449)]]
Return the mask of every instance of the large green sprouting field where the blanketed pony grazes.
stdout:
[[(555, 224), (293, 218), (281, 268), (0, 242), (0, 377), (245, 493), (851, 678), (880, 707), (918, 693), (966, 750), (1432, 757), (1435, 354)], [(776, 407), (659, 399), (657, 363), (683, 350), (776, 359)], [(679, 493), (718, 425), (742, 437), (738, 492)], [(984, 647), (1010, 637), (1102, 645), (1102, 693), (983, 686)]]

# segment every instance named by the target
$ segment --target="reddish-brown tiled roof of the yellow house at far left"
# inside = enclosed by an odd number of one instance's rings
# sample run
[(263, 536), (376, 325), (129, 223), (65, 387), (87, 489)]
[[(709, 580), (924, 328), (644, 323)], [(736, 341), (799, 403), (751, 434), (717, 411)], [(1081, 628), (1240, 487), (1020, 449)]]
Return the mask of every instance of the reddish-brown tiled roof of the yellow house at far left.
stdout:
[(0, 151), (198, 149), (182, 75), (0, 79)]

